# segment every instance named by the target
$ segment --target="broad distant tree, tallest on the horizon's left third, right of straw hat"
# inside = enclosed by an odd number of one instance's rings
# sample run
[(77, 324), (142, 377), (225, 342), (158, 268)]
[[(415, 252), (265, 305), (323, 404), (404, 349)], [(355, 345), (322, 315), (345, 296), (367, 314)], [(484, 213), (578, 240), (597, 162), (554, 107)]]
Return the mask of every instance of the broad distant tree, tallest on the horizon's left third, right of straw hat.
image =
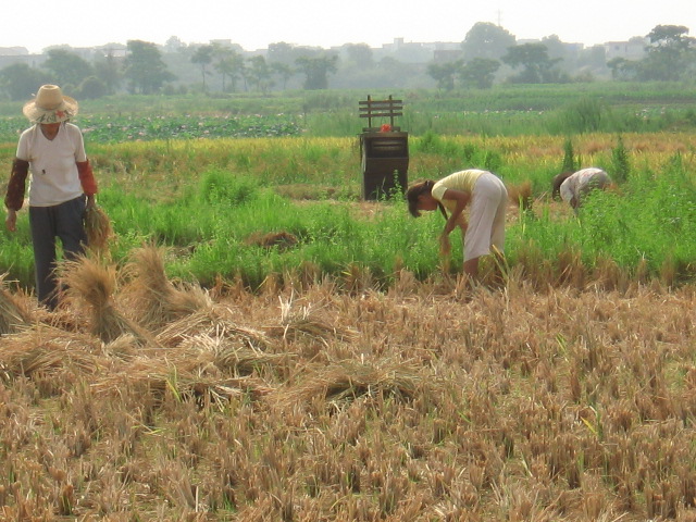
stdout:
[(142, 40), (128, 40), (128, 54), (125, 58), (124, 76), (128, 80), (128, 90), (134, 94), (151, 95), (162, 85), (172, 82), (174, 75), (166, 69), (162, 55), (154, 44)]

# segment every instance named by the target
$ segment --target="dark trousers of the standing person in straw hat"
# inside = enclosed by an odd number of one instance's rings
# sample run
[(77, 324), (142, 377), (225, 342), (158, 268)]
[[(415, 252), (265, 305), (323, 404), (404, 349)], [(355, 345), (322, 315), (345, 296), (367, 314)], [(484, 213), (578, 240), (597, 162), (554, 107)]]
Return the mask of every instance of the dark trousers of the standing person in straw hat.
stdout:
[(85, 206), (86, 199), (80, 196), (53, 207), (29, 207), (36, 294), (39, 302), (50, 310), (58, 306), (55, 238), (61, 240), (65, 259), (84, 253), (87, 245)]

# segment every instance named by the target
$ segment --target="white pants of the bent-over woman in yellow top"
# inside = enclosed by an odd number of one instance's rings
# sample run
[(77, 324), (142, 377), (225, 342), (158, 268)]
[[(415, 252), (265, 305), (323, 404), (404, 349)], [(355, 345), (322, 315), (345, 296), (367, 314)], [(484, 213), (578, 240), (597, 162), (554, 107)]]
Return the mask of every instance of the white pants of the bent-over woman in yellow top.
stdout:
[(464, 261), (490, 253), (490, 247), (502, 253), (507, 208), (508, 190), (499, 177), (485, 173), (476, 179), (464, 235)]

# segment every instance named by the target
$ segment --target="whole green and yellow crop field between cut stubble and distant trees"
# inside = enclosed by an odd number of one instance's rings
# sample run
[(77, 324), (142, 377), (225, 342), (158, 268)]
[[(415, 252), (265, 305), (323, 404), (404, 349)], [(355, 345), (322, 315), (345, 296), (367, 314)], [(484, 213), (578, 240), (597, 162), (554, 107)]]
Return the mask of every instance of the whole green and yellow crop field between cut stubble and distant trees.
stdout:
[[(507, 259), (532, 278), (562, 278), (560, 260), (571, 258), (588, 277), (611, 262), (626, 277), (645, 272), (670, 284), (688, 281), (695, 252), (684, 239), (696, 226), (689, 91), (632, 87), (511, 86), (459, 98), (405, 92), (397, 123), (410, 130), (409, 179), (482, 167), (513, 190), (531, 187), (531, 210), (511, 201)], [(361, 98), (320, 92), (84, 103), (76, 123), (96, 167), (99, 202), (113, 221), (111, 254), (120, 259), (156, 241), (173, 248), (169, 268), (178, 277), (206, 285), (237, 277), (251, 288), (270, 274), (290, 276), (307, 266), (331, 276), (358, 266), (380, 287), (400, 269), (419, 278), (438, 272), (437, 215), (413, 221), (398, 197), (360, 201)], [(7, 103), (1, 109), (10, 111)], [(21, 116), (0, 119), (8, 171), (24, 126)], [(548, 197), (569, 145), (574, 164), (602, 166), (621, 182), (579, 219)], [(21, 215), (17, 234), (2, 232), (0, 268), (30, 287), (27, 227)], [(273, 234), (291, 237), (293, 248), (260, 245)], [(453, 250), (447, 265), (457, 272), (461, 249)]]

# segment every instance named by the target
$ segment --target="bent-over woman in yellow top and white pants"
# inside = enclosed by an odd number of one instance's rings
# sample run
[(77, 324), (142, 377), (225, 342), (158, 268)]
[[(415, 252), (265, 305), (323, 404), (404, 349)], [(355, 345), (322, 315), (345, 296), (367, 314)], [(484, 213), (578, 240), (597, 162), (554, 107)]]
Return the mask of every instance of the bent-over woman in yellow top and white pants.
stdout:
[[(463, 269), (469, 276), (478, 275), (482, 256), (502, 256), (508, 191), (495, 174), (477, 169), (455, 172), (439, 182), (427, 179), (414, 184), (408, 189), (407, 198), (409, 212), (414, 217), (421, 215), (422, 210), (440, 210), (447, 219), (442, 237), (447, 238), (457, 225), (467, 231)], [(463, 219), (467, 206), (470, 207), (469, 223)]]

